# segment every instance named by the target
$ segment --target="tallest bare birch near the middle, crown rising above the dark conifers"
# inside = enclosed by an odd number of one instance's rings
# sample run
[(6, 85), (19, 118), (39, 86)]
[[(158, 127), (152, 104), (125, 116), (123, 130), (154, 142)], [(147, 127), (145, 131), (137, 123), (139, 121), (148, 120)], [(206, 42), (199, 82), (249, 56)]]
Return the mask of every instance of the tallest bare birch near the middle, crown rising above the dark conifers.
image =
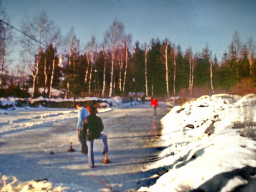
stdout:
[(120, 41), (123, 39), (124, 35), (124, 25), (117, 20), (114, 20), (113, 24), (110, 26), (108, 31), (105, 33), (105, 41), (112, 45), (112, 58), (111, 58), (111, 75), (110, 75), (110, 89), (109, 97), (112, 97), (114, 88), (114, 62), (115, 62), (115, 49), (119, 45)]

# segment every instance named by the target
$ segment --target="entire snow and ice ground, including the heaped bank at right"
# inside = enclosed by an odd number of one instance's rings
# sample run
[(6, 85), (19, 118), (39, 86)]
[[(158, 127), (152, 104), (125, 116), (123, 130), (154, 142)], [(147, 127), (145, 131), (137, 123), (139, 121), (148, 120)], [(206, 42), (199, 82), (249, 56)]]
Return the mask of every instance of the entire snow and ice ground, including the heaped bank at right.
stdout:
[[(52, 192), (255, 191), (254, 94), (206, 95), (169, 113), (160, 103), (157, 117), (149, 103), (100, 113), (108, 127), (104, 133), (113, 162), (101, 164), (101, 144), (96, 143), (96, 169), (88, 169), (87, 158), (79, 152), (66, 152), (70, 142), (79, 150), (76, 110), (23, 110), (0, 115), (3, 192), (40, 191), (36, 187)], [(43, 178), (49, 181), (33, 181)], [(102, 181), (109, 182), (112, 190)]]

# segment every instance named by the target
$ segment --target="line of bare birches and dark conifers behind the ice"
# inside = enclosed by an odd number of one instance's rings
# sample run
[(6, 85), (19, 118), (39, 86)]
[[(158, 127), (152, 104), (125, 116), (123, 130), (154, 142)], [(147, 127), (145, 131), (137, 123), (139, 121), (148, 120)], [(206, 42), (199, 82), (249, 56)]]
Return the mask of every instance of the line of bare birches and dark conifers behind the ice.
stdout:
[(252, 39), (242, 43), (238, 32), (234, 32), (220, 62), (208, 45), (200, 52), (191, 47), (182, 52), (180, 45), (168, 38), (131, 45), (132, 34), (127, 34), (117, 19), (106, 30), (101, 44), (92, 36), (81, 49), (74, 28), (62, 37), (45, 12), (22, 20), (23, 33), (15, 43), (22, 47), (20, 58), (29, 66), (29, 75), (19, 66), (18, 75), (11, 75), (6, 60), (14, 29), (5, 24), (9, 20), (3, 8), (0, 12), (1, 97), (13, 90), (14, 96), (27, 93), (29, 88), (31, 95), (25, 95), (32, 98), (51, 98), (53, 89), (63, 98), (124, 96), (128, 92), (169, 98), (232, 92), (241, 82), (255, 87), (254, 44)]

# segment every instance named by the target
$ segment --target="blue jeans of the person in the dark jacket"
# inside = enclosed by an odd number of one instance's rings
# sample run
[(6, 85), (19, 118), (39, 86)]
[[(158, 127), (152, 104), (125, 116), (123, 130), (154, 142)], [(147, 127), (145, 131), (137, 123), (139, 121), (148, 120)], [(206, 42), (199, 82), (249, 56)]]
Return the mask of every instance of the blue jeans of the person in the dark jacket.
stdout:
[[(103, 141), (102, 152), (108, 152), (107, 136), (101, 134), (101, 136), (97, 139), (101, 139)], [(94, 167), (93, 141), (94, 140), (86, 141), (88, 146), (88, 164), (90, 167)]]

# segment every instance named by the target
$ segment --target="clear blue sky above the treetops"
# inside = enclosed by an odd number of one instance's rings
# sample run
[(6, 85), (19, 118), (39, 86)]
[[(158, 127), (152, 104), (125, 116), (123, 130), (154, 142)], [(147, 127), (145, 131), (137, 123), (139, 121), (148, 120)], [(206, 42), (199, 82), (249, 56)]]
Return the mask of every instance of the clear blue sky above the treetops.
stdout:
[(74, 27), (81, 47), (92, 36), (100, 44), (115, 18), (141, 44), (168, 38), (182, 51), (200, 52), (208, 44), (221, 61), (235, 31), (242, 43), (256, 44), (255, 0), (2, 0), (11, 24), (20, 28), (25, 13), (46, 11), (65, 36)]

